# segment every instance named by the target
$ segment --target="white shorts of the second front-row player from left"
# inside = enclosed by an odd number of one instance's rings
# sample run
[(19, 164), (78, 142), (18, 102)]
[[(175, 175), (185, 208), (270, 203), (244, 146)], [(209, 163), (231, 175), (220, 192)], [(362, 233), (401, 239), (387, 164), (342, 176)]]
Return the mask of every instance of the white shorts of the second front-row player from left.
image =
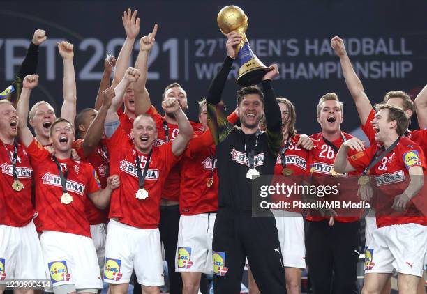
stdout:
[(52, 286), (74, 284), (79, 289), (102, 289), (96, 250), (91, 238), (43, 231), (40, 242)]

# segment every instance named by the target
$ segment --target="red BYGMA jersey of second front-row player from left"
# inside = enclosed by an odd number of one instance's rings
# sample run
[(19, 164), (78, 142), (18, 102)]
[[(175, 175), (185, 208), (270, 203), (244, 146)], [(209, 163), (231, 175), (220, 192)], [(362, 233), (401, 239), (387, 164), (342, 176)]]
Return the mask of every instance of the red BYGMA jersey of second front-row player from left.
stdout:
[(68, 170), (67, 192), (73, 197), (69, 204), (61, 203), (62, 185), (57, 164), (49, 152), (36, 140), (28, 146), (36, 186), (36, 226), (38, 231), (59, 231), (91, 237), (89, 222), (84, 214), (87, 194), (97, 192), (100, 182), (88, 162), (58, 159), (62, 171)]

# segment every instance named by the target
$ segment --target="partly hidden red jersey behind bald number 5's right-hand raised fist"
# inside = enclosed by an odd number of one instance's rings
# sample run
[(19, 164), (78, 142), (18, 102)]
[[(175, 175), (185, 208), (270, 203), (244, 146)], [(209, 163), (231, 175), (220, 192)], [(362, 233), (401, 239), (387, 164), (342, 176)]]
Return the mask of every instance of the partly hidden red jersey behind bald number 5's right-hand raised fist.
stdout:
[[(151, 106), (147, 111), (153, 120), (156, 122), (157, 127), (157, 142), (158, 146), (163, 145), (169, 141), (173, 141), (179, 133), (178, 125), (174, 125), (172, 123), (166, 123), (165, 118), (160, 116), (157, 112), (156, 107)], [(190, 121), (194, 130), (200, 130), (202, 125), (200, 123), (194, 123)], [(167, 130), (167, 131), (166, 131)], [(179, 201), (179, 188), (181, 185), (181, 164), (175, 165), (169, 173), (167, 177), (167, 181), (165, 183), (165, 187), (163, 189), (162, 198), (171, 200), (171, 201)]]

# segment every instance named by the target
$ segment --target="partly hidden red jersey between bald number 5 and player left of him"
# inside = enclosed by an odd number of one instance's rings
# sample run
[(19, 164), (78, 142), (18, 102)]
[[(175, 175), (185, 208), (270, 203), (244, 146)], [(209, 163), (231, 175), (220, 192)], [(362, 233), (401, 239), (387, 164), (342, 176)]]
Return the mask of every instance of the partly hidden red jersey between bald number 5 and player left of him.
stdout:
[[(99, 176), (101, 188), (107, 187), (108, 178), (108, 152), (107, 147), (102, 142), (96, 146), (95, 150), (88, 157), (84, 156), (82, 144), (84, 139), (77, 139), (74, 141), (73, 148), (77, 150), (77, 154), (82, 160), (92, 164), (93, 168)], [(93, 204), (92, 201), (86, 201), (85, 212), (89, 224), (105, 224), (108, 222), (108, 210), (109, 208), (99, 209)]]

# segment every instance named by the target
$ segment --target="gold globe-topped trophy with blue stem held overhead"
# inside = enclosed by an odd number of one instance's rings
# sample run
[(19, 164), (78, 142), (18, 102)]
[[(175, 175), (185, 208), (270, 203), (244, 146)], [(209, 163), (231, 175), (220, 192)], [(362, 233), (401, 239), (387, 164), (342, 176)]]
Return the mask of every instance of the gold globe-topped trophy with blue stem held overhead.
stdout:
[(221, 33), (227, 36), (228, 33), (239, 33), (242, 36), (241, 43), (237, 46), (236, 59), (239, 61), (239, 86), (252, 86), (262, 81), (262, 77), (269, 72), (269, 68), (262, 64), (260, 59), (250, 49), (246, 29), (248, 29), (248, 17), (240, 7), (230, 5), (225, 6), (218, 13), (216, 18)]

